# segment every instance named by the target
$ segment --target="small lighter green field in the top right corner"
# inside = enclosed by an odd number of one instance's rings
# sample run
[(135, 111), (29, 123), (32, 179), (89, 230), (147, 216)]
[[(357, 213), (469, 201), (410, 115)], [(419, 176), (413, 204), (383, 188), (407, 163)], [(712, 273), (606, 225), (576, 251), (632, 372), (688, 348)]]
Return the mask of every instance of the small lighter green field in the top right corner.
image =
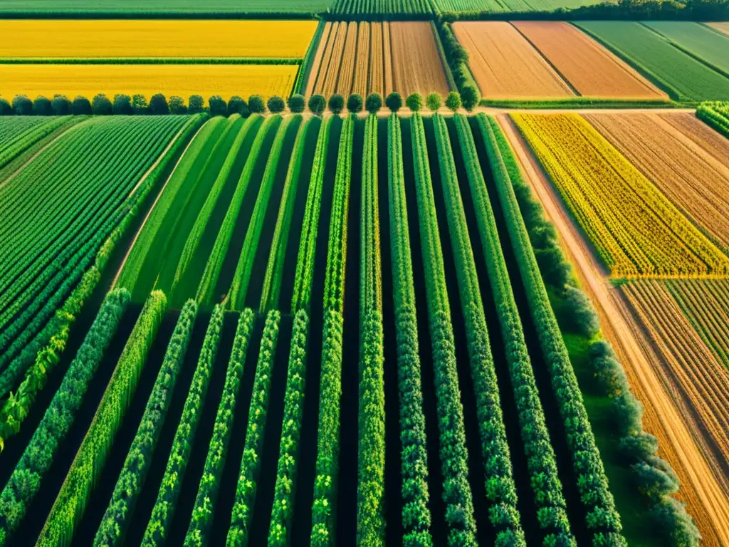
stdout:
[(666, 36), (682, 50), (717, 67), (724, 74), (729, 74), (729, 55), (727, 54), (729, 36), (720, 34), (701, 23), (651, 21), (644, 25)]

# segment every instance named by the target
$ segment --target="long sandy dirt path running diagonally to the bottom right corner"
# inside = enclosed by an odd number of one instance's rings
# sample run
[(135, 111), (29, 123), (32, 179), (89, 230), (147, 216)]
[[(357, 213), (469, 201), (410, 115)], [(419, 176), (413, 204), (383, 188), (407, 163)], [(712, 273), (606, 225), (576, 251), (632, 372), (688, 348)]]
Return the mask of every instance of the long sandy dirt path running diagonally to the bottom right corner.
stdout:
[[(505, 115), (498, 116), (526, 178), (545, 206), (547, 217), (555, 223), (569, 260), (598, 309), (604, 335), (615, 348), (634, 395), (643, 403), (644, 427), (658, 437), (660, 455), (676, 471), (682, 486), (678, 498), (687, 508), (703, 536), (703, 544), (729, 545), (729, 490), (720, 484), (717, 462), (701, 449), (700, 427), (690, 409), (679, 408), (675, 397), (661, 379), (658, 357), (650, 344), (641, 340), (640, 329), (625, 306), (620, 292), (607, 281), (606, 271), (590, 253), (589, 245), (572, 222), (561, 199), (526, 144)], [(655, 363), (655, 364), (654, 364)]]

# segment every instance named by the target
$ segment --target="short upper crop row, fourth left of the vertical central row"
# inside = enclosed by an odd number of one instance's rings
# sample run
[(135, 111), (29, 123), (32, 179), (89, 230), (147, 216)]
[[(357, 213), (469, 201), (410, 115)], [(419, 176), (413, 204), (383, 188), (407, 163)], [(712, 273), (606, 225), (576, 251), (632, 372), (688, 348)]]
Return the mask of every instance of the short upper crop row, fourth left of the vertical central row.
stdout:
[(281, 150), (284, 148), (286, 133), (289, 131), (290, 126), (293, 126), (296, 131), (299, 131), (301, 120), (301, 115), (284, 118), (278, 127), (276, 138), (273, 139), (271, 150), (268, 152), (268, 163), (266, 163), (260, 190), (256, 196), (251, 221), (246, 230), (246, 238), (243, 240), (241, 256), (238, 260), (238, 265), (235, 266), (233, 284), (230, 286), (230, 292), (228, 293), (228, 299), (232, 309), (243, 309), (246, 305), (246, 295), (248, 294), (248, 285), (253, 273), (253, 263), (263, 230), (263, 221), (265, 220), (266, 212), (268, 212), (268, 202), (270, 201), (271, 191), (273, 190), (273, 183), (276, 182), (278, 160), (281, 158)]

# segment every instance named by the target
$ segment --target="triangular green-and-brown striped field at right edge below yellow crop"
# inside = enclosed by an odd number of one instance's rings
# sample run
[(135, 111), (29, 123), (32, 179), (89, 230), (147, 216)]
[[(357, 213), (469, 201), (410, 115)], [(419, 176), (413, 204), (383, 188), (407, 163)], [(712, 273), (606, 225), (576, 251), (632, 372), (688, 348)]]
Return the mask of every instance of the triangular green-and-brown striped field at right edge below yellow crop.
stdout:
[(729, 280), (671, 279), (666, 287), (714, 357), (729, 368)]

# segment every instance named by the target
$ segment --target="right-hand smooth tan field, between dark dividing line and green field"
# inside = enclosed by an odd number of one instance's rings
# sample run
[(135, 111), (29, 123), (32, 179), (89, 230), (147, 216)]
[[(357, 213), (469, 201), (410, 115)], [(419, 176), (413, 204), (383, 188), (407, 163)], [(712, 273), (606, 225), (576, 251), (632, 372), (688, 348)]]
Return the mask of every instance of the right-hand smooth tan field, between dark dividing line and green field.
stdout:
[(666, 93), (569, 23), (514, 21), (512, 25), (582, 96), (668, 98)]

